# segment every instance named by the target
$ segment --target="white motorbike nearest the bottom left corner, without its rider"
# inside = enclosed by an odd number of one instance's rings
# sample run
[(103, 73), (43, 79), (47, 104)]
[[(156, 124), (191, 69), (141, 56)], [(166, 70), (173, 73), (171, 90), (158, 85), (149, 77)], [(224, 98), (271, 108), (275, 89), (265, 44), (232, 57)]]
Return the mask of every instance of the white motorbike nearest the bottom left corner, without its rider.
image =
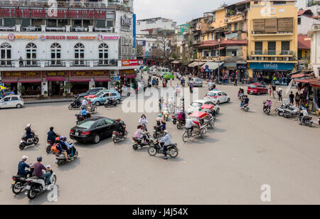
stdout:
[(50, 183), (48, 185), (46, 185), (46, 182), (43, 178), (38, 178), (36, 176), (32, 176), (26, 179), (27, 184), (26, 184), (25, 194), (28, 196), (30, 200), (32, 200), (33, 198), (36, 198), (36, 196), (39, 193), (42, 193), (43, 191), (46, 191), (46, 190), (50, 190), (57, 182), (57, 176), (55, 176), (55, 172), (53, 172), (53, 170), (49, 165), (46, 166), (46, 168), (49, 169), (51, 173)]

